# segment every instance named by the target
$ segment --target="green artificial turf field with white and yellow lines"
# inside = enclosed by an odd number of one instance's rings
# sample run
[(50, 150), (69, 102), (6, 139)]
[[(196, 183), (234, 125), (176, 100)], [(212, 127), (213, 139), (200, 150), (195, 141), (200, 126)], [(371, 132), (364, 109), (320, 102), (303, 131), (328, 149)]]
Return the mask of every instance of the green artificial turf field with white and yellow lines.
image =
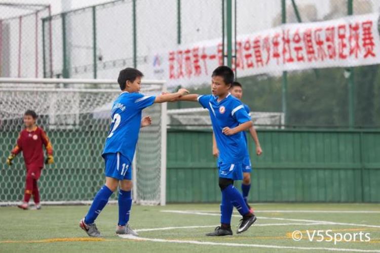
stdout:
[[(88, 206), (43, 206), (41, 210), (0, 207), (0, 252), (380, 252), (380, 204), (258, 203), (257, 221), (236, 234), (239, 215), (234, 212), (233, 236), (207, 237), (219, 224), (218, 204), (134, 205), (131, 227), (138, 238), (115, 234), (118, 206), (107, 205), (96, 223), (102, 238), (90, 238), (78, 222)], [(302, 239), (294, 241), (299, 230)], [(308, 235), (308, 231), (309, 235)], [(313, 230), (324, 236), (310, 241)], [(325, 231), (349, 240), (328, 241)], [(359, 241), (359, 233), (370, 241)], [(296, 235), (299, 239), (299, 235)], [(363, 235), (363, 240), (367, 238)], [(322, 241), (317, 241), (322, 240)], [(353, 240), (353, 239), (352, 239)]]

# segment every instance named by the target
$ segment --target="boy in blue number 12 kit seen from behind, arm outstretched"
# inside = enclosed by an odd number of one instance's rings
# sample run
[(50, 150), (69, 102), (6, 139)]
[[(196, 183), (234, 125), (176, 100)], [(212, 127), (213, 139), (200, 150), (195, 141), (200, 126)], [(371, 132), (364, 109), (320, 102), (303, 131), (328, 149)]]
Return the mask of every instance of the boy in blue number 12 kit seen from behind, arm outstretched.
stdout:
[(138, 93), (142, 76), (143, 74), (134, 68), (123, 69), (119, 74), (118, 83), (122, 93), (113, 102), (110, 131), (102, 153), (105, 161), (105, 184), (96, 194), (87, 215), (79, 223), (89, 236), (101, 236), (94, 223), (95, 219), (118, 186), (119, 222), (116, 233), (137, 235), (128, 224), (132, 206), (132, 159), (140, 128), (151, 123), (149, 116), (141, 119), (141, 112), (154, 103), (176, 101), (188, 93), (185, 89), (180, 89), (174, 94), (144, 96)]

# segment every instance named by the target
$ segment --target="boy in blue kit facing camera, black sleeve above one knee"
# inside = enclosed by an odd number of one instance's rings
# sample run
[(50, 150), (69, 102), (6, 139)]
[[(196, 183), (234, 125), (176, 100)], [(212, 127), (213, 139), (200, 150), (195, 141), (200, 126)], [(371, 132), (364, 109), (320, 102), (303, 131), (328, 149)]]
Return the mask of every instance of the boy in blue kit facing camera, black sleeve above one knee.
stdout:
[(219, 147), (218, 169), (219, 187), (222, 200), (220, 204), (220, 223), (215, 230), (206, 235), (232, 235), (231, 217), (234, 206), (242, 215), (237, 233), (246, 231), (255, 221), (242, 194), (234, 187), (234, 180), (242, 180), (242, 161), (246, 152), (244, 136), (241, 133), (252, 126), (251, 117), (244, 110), (239, 99), (231, 96), (230, 88), (234, 72), (230, 67), (219, 66), (212, 72), (212, 95), (185, 95), (181, 101), (198, 101), (210, 113), (212, 128)]

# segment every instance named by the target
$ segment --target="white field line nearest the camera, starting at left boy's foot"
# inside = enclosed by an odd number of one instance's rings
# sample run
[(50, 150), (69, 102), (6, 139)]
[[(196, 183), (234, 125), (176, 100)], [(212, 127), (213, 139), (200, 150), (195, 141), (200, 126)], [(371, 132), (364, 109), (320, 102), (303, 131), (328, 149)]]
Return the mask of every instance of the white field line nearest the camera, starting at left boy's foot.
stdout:
[(221, 242), (195, 241), (195, 240), (166, 240), (166, 239), (157, 239), (157, 238), (137, 237), (137, 236), (133, 236), (133, 235), (119, 235), (119, 237), (124, 238), (124, 239), (131, 239), (131, 240), (135, 240), (135, 241), (187, 243), (187, 244), (213, 245), (213, 246), (279, 248), (279, 249), (298, 249), (298, 250), (324, 250), (324, 251), (380, 252), (380, 250), (371, 250), (371, 249), (327, 248), (327, 247), (295, 247), (295, 246), (277, 246), (277, 245), (268, 245), (268, 244), (221, 243)]

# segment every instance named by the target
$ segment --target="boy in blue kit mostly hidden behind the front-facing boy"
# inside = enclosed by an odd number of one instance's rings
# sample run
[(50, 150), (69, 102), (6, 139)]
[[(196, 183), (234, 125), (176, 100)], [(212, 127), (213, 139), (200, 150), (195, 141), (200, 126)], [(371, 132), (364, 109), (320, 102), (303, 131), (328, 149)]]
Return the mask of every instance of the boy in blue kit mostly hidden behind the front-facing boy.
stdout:
[[(243, 97), (243, 88), (242, 88), (242, 85), (240, 82), (238, 81), (234, 81), (232, 83), (232, 87), (231, 87), (231, 95), (236, 97), (237, 99), (239, 99), (241, 101), (242, 97)], [(244, 104), (244, 109), (247, 111), (248, 115), (251, 116), (251, 109), (249, 108), (248, 105)], [(260, 146), (260, 142), (258, 140), (258, 137), (257, 137), (257, 133), (256, 133), (256, 130), (255, 128), (252, 127), (249, 129), (249, 133), (251, 134), (251, 137), (253, 139), (253, 141), (255, 142), (255, 145), (256, 145), (256, 154), (257, 155), (261, 155), (262, 153), (262, 149), (261, 149), (261, 146)], [(246, 146), (247, 146), (247, 151), (246, 151), (246, 155), (244, 157), (244, 160), (243, 160), (243, 163), (242, 163), (242, 167), (243, 167), (243, 182), (242, 182), (242, 193), (243, 193), (243, 197), (244, 197), (244, 200), (245, 200), (245, 203), (247, 204), (248, 208), (251, 210), (251, 212), (253, 213), (253, 209), (251, 208), (251, 206), (248, 204), (248, 194), (249, 194), (249, 190), (251, 188), (251, 172), (252, 172), (252, 165), (251, 165), (251, 159), (249, 157), (249, 149), (248, 149), (248, 140), (247, 140), (247, 135), (245, 132), (243, 132), (243, 135), (244, 135), (244, 139), (245, 139), (245, 142), (246, 142)], [(218, 157), (219, 155), (219, 150), (218, 150), (218, 147), (216, 145), (216, 142), (215, 142), (215, 136), (213, 135), (212, 136), (212, 154), (215, 156), (215, 157)]]

